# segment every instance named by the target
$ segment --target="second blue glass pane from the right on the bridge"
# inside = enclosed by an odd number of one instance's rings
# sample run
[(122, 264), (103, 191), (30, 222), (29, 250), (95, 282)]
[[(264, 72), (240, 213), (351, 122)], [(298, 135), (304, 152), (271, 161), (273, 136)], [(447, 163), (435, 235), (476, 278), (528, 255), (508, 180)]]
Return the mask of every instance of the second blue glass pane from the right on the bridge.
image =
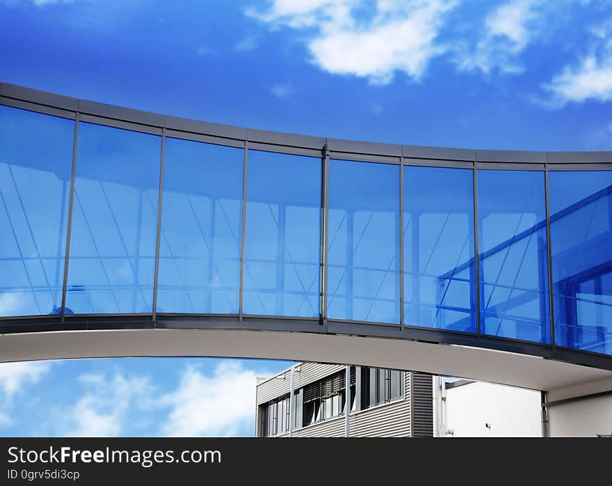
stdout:
[(544, 173), (478, 171), (481, 332), (550, 343)]

